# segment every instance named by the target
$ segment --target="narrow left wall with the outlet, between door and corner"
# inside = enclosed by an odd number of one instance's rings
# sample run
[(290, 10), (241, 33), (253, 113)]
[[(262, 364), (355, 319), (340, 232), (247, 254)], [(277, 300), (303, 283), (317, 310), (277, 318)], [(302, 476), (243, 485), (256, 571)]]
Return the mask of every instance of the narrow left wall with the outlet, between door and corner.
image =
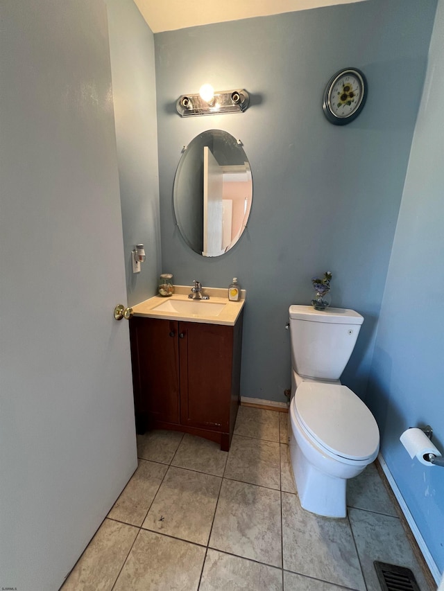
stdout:
[[(126, 288), (133, 306), (155, 294), (160, 270), (154, 36), (133, 1), (106, 3)], [(139, 243), (146, 262), (133, 274), (131, 251)]]

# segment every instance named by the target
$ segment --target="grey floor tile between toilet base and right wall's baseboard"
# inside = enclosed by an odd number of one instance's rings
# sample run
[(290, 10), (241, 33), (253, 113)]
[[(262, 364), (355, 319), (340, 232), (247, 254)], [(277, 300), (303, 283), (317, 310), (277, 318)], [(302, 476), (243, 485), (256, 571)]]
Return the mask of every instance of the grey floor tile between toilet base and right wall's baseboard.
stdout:
[(359, 476), (348, 480), (347, 504), (355, 509), (367, 509), (398, 517), (375, 464), (370, 464)]

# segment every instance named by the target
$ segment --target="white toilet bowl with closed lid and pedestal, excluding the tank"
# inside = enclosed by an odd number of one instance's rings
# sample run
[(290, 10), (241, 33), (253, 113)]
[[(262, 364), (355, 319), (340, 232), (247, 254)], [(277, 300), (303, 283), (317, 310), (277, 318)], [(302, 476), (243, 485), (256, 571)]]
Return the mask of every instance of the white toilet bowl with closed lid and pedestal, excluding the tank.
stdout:
[(296, 389), (289, 418), (300, 504), (318, 515), (345, 517), (347, 480), (359, 475), (379, 451), (375, 418), (348, 387), (314, 381)]

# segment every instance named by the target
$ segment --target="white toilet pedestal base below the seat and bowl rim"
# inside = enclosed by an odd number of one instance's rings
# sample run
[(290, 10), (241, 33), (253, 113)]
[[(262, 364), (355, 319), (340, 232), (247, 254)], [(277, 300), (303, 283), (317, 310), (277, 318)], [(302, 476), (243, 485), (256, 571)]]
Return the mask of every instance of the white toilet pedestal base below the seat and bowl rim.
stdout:
[(344, 518), (347, 515), (347, 479), (322, 473), (310, 464), (292, 432), (290, 456), (302, 509), (324, 517)]

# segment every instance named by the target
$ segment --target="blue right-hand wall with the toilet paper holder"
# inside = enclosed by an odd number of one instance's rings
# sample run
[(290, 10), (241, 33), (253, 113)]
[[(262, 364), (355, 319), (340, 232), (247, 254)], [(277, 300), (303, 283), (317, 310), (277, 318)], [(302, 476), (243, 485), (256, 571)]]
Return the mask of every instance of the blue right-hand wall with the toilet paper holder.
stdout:
[(399, 436), (429, 423), (444, 450), (444, 1), (439, 0), (413, 136), (367, 402), (382, 455), (444, 570), (444, 469), (411, 460)]

